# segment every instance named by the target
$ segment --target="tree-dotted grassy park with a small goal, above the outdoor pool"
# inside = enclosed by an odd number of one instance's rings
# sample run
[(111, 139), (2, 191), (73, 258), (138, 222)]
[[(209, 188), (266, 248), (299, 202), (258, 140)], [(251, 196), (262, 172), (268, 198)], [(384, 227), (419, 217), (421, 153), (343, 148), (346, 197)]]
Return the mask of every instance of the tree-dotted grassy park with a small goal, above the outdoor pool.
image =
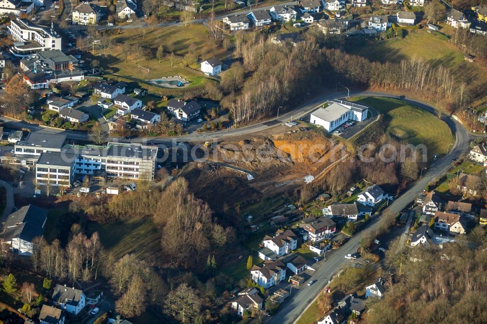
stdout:
[[(142, 34), (142, 31), (145, 34)], [(196, 86), (206, 82), (206, 78), (200, 73), (185, 70), (181, 66), (181, 57), (188, 53), (190, 46), (194, 47), (194, 54), (197, 60), (210, 58), (213, 56), (225, 57), (225, 50), (219, 48), (207, 36), (207, 29), (203, 24), (193, 24), (188, 27), (154, 27), (146, 29), (124, 29), (120, 35), (113, 35), (112, 40), (117, 44), (107, 57), (96, 56), (100, 61), (100, 66), (107, 72), (118, 73), (121, 75), (136, 77), (143, 80), (150, 80), (166, 76), (180, 75), (190, 82), (189, 86)], [(159, 46), (163, 46), (167, 52), (174, 52), (176, 55), (172, 60), (167, 54), (161, 62), (154, 58), (139, 58), (135, 60), (128, 57), (127, 61), (122, 57), (121, 44), (139, 44), (148, 49), (152, 56), (155, 56)], [(149, 69), (149, 72), (139, 68), (139, 65)], [(199, 65), (198, 65), (199, 66)]]

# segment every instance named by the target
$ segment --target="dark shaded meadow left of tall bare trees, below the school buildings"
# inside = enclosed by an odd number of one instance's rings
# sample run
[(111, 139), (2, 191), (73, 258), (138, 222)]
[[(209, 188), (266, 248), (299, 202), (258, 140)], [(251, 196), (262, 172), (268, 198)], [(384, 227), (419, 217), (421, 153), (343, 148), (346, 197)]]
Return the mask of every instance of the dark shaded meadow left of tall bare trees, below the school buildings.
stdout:
[(133, 253), (154, 263), (162, 258), (161, 234), (151, 218), (127, 218), (108, 224), (90, 222), (87, 232), (98, 232), (103, 247), (116, 257)]

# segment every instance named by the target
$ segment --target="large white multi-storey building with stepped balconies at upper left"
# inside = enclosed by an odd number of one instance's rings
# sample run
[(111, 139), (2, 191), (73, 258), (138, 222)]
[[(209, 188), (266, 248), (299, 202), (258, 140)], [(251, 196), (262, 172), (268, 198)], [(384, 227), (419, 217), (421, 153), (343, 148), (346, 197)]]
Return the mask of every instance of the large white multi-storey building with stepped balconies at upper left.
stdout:
[(39, 26), (27, 19), (17, 18), (7, 27), (14, 44), (10, 52), (18, 57), (32, 56), (39, 51), (61, 50), (61, 36), (53, 27)]

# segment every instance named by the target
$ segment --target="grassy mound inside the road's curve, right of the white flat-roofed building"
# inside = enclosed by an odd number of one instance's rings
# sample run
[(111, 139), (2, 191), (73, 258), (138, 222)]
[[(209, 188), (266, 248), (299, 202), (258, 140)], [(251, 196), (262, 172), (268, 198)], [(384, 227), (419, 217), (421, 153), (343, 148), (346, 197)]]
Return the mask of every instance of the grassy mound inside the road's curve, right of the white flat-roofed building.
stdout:
[(428, 111), (391, 98), (367, 97), (358, 101), (384, 114), (386, 134), (408, 144), (424, 144), (428, 157), (445, 154), (455, 140), (447, 124)]

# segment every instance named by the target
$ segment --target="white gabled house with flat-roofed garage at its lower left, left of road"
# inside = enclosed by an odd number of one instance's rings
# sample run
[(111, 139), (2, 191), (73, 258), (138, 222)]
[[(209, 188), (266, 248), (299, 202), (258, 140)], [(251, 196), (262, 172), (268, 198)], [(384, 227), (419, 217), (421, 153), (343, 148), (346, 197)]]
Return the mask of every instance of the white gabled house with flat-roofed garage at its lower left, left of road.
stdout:
[[(265, 235), (262, 240), (264, 249), (259, 251), (262, 260), (273, 260), (282, 255), (286, 255), (298, 247), (298, 236), (293, 231), (278, 231), (273, 237)], [(270, 250), (272, 253), (269, 254)]]

